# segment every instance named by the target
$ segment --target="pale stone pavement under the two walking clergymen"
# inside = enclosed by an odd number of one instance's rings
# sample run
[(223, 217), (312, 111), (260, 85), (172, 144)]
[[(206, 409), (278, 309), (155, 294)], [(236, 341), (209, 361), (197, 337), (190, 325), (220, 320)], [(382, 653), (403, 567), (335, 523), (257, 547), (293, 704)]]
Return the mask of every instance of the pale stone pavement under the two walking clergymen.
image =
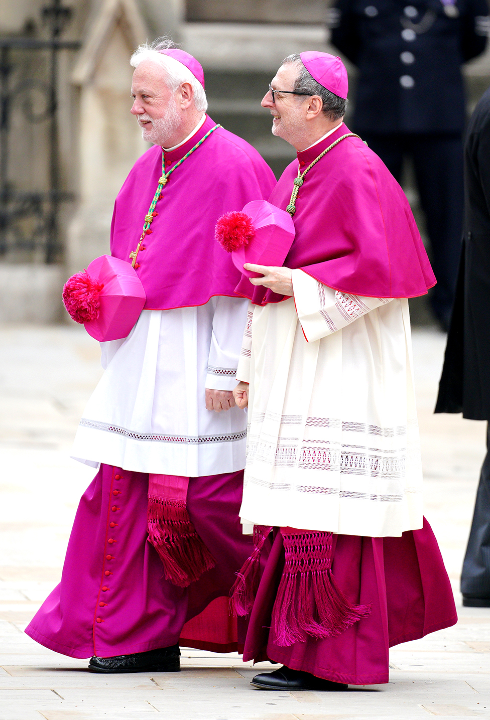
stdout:
[(86, 661), (23, 633), (58, 582), (76, 505), (92, 480), (92, 469), (68, 453), (101, 370), (97, 343), (82, 328), (0, 328), (0, 720), (490, 718), (490, 609), (461, 608), (458, 593), (486, 428), (432, 415), (444, 345), (436, 331), (414, 333), (426, 515), (460, 621), (393, 648), (388, 685), (280, 693), (252, 689), (257, 670), (236, 654), (184, 649), (180, 673), (94, 675)]

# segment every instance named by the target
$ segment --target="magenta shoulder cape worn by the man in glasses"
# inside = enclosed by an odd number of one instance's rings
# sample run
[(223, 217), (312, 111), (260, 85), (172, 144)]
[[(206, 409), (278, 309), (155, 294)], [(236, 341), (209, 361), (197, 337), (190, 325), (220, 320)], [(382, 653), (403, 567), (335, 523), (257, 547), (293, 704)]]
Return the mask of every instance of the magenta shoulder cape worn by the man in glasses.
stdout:
[[(269, 202), (285, 210), (298, 161), (303, 172), (347, 132), (341, 125), (298, 153)], [(308, 171), (293, 221), (296, 235), (284, 266), (300, 268), (331, 288), (365, 297), (416, 297), (436, 282), (404, 192), (359, 138), (342, 140)], [(236, 292), (256, 305), (285, 299), (244, 276)]]

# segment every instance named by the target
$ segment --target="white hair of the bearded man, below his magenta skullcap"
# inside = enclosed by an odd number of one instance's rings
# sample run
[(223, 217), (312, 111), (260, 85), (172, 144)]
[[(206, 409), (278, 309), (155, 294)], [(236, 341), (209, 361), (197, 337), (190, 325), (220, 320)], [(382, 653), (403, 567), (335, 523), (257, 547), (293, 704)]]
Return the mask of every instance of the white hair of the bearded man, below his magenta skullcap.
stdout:
[(179, 63), (175, 58), (171, 58), (169, 55), (163, 55), (159, 53), (159, 50), (169, 50), (174, 48), (175, 45), (169, 37), (158, 37), (156, 40), (148, 44), (140, 45), (137, 50), (131, 55), (130, 65), (133, 68), (137, 68), (143, 60), (151, 60), (153, 63), (164, 68), (167, 76), (167, 83), (169, 88), (175, 92), (182, 83), (189, 83), (194, 91), (194, 104), (196, 110), (206, 112), (208, 109), (208, 100), (204, 88), (200, 84), (200, 81), (192, 75), (189, 68)]

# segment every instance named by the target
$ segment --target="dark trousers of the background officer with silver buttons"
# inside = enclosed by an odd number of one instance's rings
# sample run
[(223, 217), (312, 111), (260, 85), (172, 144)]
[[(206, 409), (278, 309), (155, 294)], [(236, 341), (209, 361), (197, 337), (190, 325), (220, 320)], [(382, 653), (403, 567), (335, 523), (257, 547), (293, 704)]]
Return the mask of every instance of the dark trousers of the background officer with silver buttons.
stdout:
[(430, 302), (447, 328), (453, 307), (463, 234), (463, 143), (460, 135), (360, 132), (398, 182), (404, 156), (414, 163), (416, 184), (432, 248), (437, 285)]

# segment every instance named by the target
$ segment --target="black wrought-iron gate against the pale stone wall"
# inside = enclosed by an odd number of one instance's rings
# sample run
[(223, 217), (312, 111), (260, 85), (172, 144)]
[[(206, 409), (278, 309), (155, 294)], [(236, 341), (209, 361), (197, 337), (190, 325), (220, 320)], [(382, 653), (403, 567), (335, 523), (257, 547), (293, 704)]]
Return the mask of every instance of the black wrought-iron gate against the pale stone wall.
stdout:
[[(0, 261), (55, 263), (63, 257), (58, 228), (58, 53), (71, 8), (51, 0), (41, 10), (48, 39), (0, 38)], [(37, 188), (36, 188), (37, 186)]]

